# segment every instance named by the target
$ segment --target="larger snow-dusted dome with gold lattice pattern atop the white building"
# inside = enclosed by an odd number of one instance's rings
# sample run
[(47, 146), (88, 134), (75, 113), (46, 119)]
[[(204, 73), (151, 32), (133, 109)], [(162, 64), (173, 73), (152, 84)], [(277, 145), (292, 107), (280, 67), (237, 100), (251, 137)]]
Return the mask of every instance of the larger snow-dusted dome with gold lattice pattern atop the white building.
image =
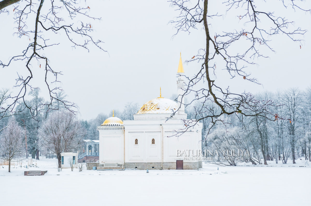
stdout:
[(177, 102), (162, 97), (146, 102), (137, 114), (173, 113), (176, 111)]

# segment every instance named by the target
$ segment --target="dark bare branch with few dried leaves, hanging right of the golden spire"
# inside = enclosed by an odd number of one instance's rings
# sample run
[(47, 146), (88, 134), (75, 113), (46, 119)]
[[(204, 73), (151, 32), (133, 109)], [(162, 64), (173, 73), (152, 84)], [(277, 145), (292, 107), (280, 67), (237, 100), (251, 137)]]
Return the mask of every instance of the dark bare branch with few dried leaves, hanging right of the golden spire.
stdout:
[[(257, 100), (252, 94), (244, 92), (242, 94), (233, 93), (228, 88), (221, 88), (214, 80), (216, 64), (225, 66), (225, 70), (231, 78), (242, 77), (258, 84), (255, 78), (252, 78), (246, 71), (248, 65), (256, 64), (255, 58), (267, 57), (260, 52), (260, 48), (265, 46), (271, 51), (273, 48), (269, 45), (272, 36), (284, 34), (290, 40), (300, 42), (306, 30), (292, 28), (294, 22), (287, 20), (286, 17), (275, 16), (273, 12), (258, 10), (255, 0), (226, 0), (223, 3), (225, 12), (234, 10), (239, 12), (236, 16), (239, 21), (243, 21), (244, 28), (241, 31), (225, 31), (222, 33), (211, 35), (210, 27), (212, 26), (211, 19), (219, 17), (219, 9), (209, 8), (208, 0), (172, 0), (171, 6), (180, 11), (180, 14), (174, 21), (178, 34), (181, 31), (191, 32), (192, 29), (204, 28), (206, 41), (204, 46), (199, 49), (197, 55), (186, 62), (201, 62), (201, 68), (198, 69), (197, 75), (193, 78), (187, 78), (188, 83), (182, 98), (185, 95), (191, 95), (195, 98), (185, 107), (190, 107), (195, 102), (200, 102), (199, 107), (195, 107), (195, 119), (185, 121), (187, 130), (190, 126), (195, 125), (198, 121), (207, 119), (211, 122), (208, 132), (217, 122), (222, 122), (226, 125), (225, 116), (235, 114), (243, 121), (243, 117), (265, 117), (274, 121), (275, 114), (269, 108), (277, 106), (276, 103), (266, 100)], [(275, 1), (279, 2), (279, 1)], [(281, 6), (285, 6), (285, 0), (280, 1)], [(298, 6), (300, 0), (289, 0), (292, 8), (301, 11), (303, 9)], [(300, 5), (300, 4), (299, 4)], [(286, 7), (286, 6), (285, 6)], [(242, 9), (242, 10), (241, 10)], [(215, 12), (217, 11), (217, 12)], [(240, 12), (244, 11), (244, 14)], [(232, 11), (231, 11), (232, 12)], [(291, 25), (291, 26), (290, 26)], [(175, 35), (176, 35), (175, 34)], [(246, 44), (245, 49), (238, 49), (237, 44)], [(198, 82), (204, 82), (207, 88), (197, 88)], [(176, 113), (176, 112), (175, 112)], [(174, 114), (175, 114), (174, 113)], [(172, 116), (174, 116), (174, 114)], [(192, 126), (193, 127), (193, 126)]]

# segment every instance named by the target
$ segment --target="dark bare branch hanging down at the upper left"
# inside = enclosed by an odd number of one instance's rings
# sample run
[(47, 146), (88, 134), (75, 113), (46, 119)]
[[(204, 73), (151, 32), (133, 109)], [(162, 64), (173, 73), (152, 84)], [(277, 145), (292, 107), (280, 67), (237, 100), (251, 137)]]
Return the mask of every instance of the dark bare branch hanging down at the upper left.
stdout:
[[(0, 3), (4, 4), (4, 2), (10, 1), (4, 0), (2, 2)], [(19, 103), (25, 105), (24, 109), (32, 110), (25, 101), (25, 97), (28, 91), (36, 88), (31, 85), (31, 80), (34, 78), (34, 63), (45, 71), (44, 81), (50, 98), (48, 102), (42, 103), (42, 105), (47, 108), (47, 112), (51, 109), (58, 109), (53, 107), (52, 103), (54, 101), (61, 102), (65, 109), (73, 113), (77, 112), (76, 104), (60, 99), (57, 96), (62, 91), (62, 88), (57, 86), (60, 83), (58, 76), (62, 75), (62, 72), (56, 71), (50, 66), (49, 58), (44, 55), (44, 50), (58, 45), (58, 43), (49, 43), (53, 42), (53, 39), (47, 39), (44, 34), (50, 31), (54, 34), (63, 34), (61, 36), (66, 37), (72, 43), (73, 48), (81, 47), (89, 51), (89, 45), (93, 44), (101, 51), (105, 51), (101, 47), (103, 42), (94, 40), (91, 36), (90, 33), (93, 32), (93, 29), (90, 23), (82, 21), (78, 21), (78, 24), (76, 23), (81, 17), (88, 17), (91, 20), (100, 20), (100, 18), (89, 16), (88, 11), (90, 7), (81, 7), (80, 4), (82, 3), (76, 0), (61, 0), (59, 2), (53, 0), (50, 2), (44, 0), (23, 0), (15, 2), (18, 2), (18, 4), (13, 9), (16, 20), (16, 31), (14, 34), (19, 38), (27, 38), (29, 41), (33, 40), (21, 54), (11, 57), (8, 62), (5, 63), (0, 59), (0, 66), (2, 67), (8, 67), (14, 61), (25, 62), (28, 71), (27, 76), (18, 75), (14, 93), (6, 98), (7, 106), (0, 111), (0, 119), (8, 114), (14, 114), (15, 108)], [(43, 5), (45, 5), (44, 10), (42, 10)], [(47, 7), (49, 9), (46, 9)], [(74, 21), (70, 22), (66, 15)], [(30, 29), (33, 27), (28, 26), (27, 24), (29, 23), (26, 20), (33, 21), (34, 29)]]

